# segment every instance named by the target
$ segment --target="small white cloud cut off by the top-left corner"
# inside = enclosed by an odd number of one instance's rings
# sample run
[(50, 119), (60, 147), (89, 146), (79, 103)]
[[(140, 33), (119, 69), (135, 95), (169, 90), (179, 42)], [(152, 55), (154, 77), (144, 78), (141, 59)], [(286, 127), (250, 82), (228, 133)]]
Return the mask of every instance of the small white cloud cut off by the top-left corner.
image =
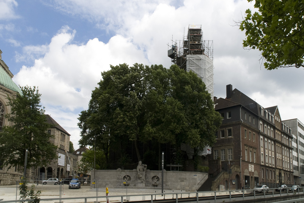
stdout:
[(15, 0), (2, 0), (0, 1), (0, 20), (9, 20), (19, 18), (15, 14), (14, 8), (18, 6), (18, 3)]

